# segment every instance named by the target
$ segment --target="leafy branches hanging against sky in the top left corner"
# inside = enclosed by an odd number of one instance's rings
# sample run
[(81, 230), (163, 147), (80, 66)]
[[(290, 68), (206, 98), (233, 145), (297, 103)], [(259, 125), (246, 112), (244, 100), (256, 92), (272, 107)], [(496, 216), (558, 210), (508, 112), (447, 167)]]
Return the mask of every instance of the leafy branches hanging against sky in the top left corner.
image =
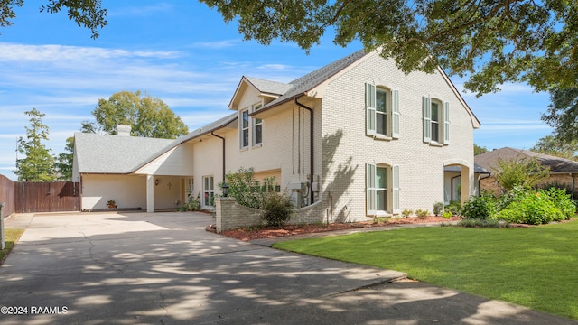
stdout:
[[(66, 11), (69, 20), (92, 32), (92, 38), (98, 37), (98, 28), (107, 25), (107, 9), (102, 9), (101, 0), (45, 0), (39, 10), (49, 14)], [(11, 26), (16, 17), (16, 9), (24, 5), (23, 0), (0, 0), (0, 27)]]

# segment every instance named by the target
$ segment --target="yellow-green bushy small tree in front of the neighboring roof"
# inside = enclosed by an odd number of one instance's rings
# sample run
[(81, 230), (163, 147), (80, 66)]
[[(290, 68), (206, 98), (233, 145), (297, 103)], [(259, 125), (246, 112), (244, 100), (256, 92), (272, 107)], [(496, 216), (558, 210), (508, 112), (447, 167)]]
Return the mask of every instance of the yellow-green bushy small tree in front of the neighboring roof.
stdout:
[(540, 164), (536, 158), (514, 159), (499, 158), (496, 166), (492, 166), (496, 180), (506, 192), (520, 187), (531, 189), (548, 178), (550, 169)]

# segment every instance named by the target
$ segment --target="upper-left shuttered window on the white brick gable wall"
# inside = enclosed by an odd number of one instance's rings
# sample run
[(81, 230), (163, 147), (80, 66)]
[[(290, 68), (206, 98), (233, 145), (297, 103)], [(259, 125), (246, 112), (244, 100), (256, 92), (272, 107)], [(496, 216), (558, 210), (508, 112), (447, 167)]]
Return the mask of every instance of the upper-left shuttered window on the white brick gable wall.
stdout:
[(366, 134), (374, 138), (399, 137), (399, 91), (365, 84)]

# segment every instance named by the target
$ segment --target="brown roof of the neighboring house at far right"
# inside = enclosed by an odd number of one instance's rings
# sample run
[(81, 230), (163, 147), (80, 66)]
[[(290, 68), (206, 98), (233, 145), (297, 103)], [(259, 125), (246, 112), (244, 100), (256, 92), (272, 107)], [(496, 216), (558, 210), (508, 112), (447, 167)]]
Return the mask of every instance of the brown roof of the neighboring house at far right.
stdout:
[(492, 170), (492, 167), (497, 166), (500, 158), (503, 160), (536, 158), (538, 163), (549, 167), (551, 173), (578, 172), (578, 162), (573, 160), (510, 147), (480, 153), (474, 157), (474, 161), (483, 168)]

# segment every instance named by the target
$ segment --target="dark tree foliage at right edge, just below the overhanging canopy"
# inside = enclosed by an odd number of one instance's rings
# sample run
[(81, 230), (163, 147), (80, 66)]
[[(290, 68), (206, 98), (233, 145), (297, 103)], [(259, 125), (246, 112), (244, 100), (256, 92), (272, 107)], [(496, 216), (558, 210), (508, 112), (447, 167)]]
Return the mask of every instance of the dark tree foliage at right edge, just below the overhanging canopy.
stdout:
[(578, 142), (578, 88), (550, 90), (550, 105), (542, 120), (555, 128), (555, 138), (567, 144)]

